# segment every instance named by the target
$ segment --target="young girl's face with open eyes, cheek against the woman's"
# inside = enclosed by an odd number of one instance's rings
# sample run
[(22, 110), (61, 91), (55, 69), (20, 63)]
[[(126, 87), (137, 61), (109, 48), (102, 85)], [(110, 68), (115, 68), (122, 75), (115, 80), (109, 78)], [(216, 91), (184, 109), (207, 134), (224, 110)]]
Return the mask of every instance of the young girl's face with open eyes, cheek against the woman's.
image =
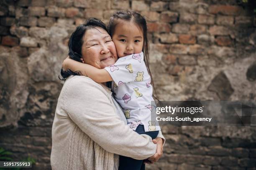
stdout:
[(115, 26), (113, 42), (118, 53), (118, 57), (141, 53), (143, 48), (143, 32), (141, 28), (133, 22), (120, 21)]

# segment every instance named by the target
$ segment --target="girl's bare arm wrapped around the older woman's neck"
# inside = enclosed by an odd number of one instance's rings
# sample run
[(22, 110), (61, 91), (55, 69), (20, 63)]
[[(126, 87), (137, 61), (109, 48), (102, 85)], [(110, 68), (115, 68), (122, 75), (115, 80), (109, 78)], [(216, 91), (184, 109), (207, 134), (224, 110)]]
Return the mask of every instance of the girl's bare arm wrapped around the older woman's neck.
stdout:
[(105, 69), (98, 69), (92, 65), (84, 64), (70, 58), (66, 58), (64, 60), (62, 67), (64, 68), (64, 70), (70, 69), (73, 72), (79, 71), (82, 75), (90, 77), (95, 82), (100, 83), (113, 81), (112, 77)]

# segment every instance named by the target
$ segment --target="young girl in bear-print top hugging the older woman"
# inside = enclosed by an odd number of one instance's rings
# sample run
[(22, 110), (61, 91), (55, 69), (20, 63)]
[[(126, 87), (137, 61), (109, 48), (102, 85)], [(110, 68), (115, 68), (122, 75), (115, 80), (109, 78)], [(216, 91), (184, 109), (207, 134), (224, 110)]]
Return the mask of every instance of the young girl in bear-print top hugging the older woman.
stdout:
[[(98, 69), (67, 59), (63, 66), (72, 71), (79, 70), (95, 82), (114, 81), (115, 99), (125, 112), (127, 125), (137, 133), (147, 134), (154, 139), (160, 127), (151, 120), (151, 101), (154, 99), (148, 67), (146, 20), (134, 11), (118, 11), (110, 18), (108, 30), (119, 57), (114, 65)], [(145, 169), (143, 160), (120, 156), (119, 162), (119, 170)]]

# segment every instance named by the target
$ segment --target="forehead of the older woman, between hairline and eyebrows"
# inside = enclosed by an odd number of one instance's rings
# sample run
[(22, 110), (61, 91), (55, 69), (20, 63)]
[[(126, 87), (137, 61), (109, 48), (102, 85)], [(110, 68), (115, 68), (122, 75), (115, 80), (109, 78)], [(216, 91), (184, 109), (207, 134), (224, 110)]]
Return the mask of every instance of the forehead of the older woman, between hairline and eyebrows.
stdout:
[(84, 43), (90, 43), (92, 41), (100, 41), (110, 37), (108, 32), (100, 27), (91, 28), (86, 30), (83, 40)]

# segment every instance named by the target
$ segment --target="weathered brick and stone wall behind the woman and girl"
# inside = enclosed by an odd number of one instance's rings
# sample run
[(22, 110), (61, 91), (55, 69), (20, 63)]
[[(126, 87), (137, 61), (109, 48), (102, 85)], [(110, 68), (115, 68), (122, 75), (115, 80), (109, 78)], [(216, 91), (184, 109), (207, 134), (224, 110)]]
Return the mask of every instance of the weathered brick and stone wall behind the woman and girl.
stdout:
[[(116, 10), (146, 16), (161, 100), (256, 100), (253, 0), (2, 0), (0, 147), (51, 169), (51, 125), (67, 40), (86, 18)], [(165, 125), (152, 170), (255, 170), (255, 127)]]

